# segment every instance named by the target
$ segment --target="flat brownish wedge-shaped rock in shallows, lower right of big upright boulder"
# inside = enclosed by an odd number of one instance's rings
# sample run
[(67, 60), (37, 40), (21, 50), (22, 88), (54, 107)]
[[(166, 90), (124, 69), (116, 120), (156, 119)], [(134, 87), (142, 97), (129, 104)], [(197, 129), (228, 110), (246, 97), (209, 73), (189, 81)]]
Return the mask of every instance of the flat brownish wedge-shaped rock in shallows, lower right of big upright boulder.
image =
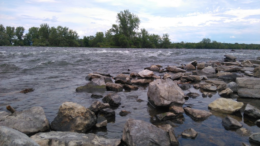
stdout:
[(212, 115), (211, 112), (205, 110), (191, 109), (188, 107), (185, 107), (184, 110), (194, 119), (205, 119)]

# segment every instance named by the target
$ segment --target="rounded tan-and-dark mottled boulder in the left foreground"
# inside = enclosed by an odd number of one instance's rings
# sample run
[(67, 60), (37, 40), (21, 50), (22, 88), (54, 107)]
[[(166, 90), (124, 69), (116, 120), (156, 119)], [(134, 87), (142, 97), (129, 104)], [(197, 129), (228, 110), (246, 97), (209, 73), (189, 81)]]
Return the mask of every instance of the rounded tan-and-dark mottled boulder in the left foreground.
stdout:
[(94, 112), (84, 106), (64, 102), (59, 108), (58, 115), (51, 122), (51, 129), (85, 133), (97, 122)]

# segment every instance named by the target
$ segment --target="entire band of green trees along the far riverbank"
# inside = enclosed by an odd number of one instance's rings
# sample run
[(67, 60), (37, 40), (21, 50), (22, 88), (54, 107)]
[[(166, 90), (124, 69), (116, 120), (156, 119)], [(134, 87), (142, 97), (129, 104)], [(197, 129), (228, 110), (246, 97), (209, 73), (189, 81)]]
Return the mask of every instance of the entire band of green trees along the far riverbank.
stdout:
[(83, 39), (66, 26), (50, 27), (43, 23), (40, 27), (29, 28), (23, 35), (23, 26), (0, 24), (0, 46), (260, 50), (260, 44), (221, 43), (209, 38), (198, 43), (174, 43), (167, 33), (160, 36), (150, 34), (145, 28), (139, 31), (140, 19), (128, 9), (117, 14), (116, 23), (105, 33), (96, 32), (95, 36), (83, 36)]

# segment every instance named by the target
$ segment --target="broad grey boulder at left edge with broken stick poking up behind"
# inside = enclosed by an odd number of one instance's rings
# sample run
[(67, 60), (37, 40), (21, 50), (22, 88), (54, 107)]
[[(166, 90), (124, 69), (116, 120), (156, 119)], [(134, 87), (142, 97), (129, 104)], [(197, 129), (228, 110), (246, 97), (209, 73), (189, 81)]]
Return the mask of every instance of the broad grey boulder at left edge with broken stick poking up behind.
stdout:
[(0, 112), (0, 125), (13, 128), (24, 134), (34, 134), (50, 129), (42, 107), (32, 107), (24, 111), (16, 111), (13, 114)]

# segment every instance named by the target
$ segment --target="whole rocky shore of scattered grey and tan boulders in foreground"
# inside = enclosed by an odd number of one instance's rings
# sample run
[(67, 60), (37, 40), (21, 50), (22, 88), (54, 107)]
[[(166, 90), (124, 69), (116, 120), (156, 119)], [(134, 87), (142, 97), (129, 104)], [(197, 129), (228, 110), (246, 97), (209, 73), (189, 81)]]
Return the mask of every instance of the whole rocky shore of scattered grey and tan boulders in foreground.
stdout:
[[(224, 58), (225, 57), (225, 58)], [(158, 108), (165, 113), (158, 114), (157, 119), (165, 121), (174, 119), (183, 124), (183, 114), (190, 116), (195, 121), (207, 120), (212, 112), (233, 114), (235, 116), (248, 116), (251, 121), (259, 126), (260, 110), (246, 104), (243, 112), (238, 112), (244, 106), (243, 102), (230, 98), (260, 98), (260, 57), (255, 60), (236, 61), (235, 56), (224, 55), (223, 62), (192, 61), (182, 66), (151, 65), (140, 72), (120, 73), (115, 77), (109, 74), (93, 72), (86, 76), (89, 81), (86, 85), (76, 88), (77, 92), (103, 92), (114, 91), (102, 96), (92, 94), (92, 98), (102, 98), (102, 102), (94, 101), (89, 107), (80, 103), (64, 102), (60, 105), (55, 119), (49, 123), (42, 107), (31, 107), (24, 111), (0, 112), (0, 145), (180, 145), (178, 135), (171, 124), (155, 126), (151, 123), (128, 118), (122, 129), (122, 138), (108, 139), (97, 136), (91, 132), (107, 126), (115, 121), (115, 111), (121, 104), (121, 97), (116, 94), (121, 91), (134, 92), (140, 86), (147, 86), (147, 98), (153, 108)], [(154, 72), (163, 74), (155, 75)], [(129, 74), (128, 74), (129, 73)], [(200, 89), (201, 94), (184, 94), (185, 89), (193, 86)], [(26, 89), (21, 91), (26, 93)], [(30, 90), (33, 91), (33, 90)], [(197, 96), (211, 97), (212, 91), (218, 91), (221, 98), (208, 105), (208, 110), (184, 107), (185, 99)], [(137, 102), (142, 102), (137, 97)], [(131, 112), (122, 110), (121, 116)], [(240, 115), (239, 115), (240, 114)], [(251, 145), (260, 144), (260, 133), (252, 133), (243, 128), (235, 118), (226, 116), (221, 124), (226, 130), (235, 130), (247, 136)], [(200, 133), (192, 127), (187, 127), (181, 137), (194, 139)], [(30, 136), (30, 137), (29, 137)], [(243, 145), (244, 143), (242, 143)], [(246, 144), (244, 144), (246, 145)]]

